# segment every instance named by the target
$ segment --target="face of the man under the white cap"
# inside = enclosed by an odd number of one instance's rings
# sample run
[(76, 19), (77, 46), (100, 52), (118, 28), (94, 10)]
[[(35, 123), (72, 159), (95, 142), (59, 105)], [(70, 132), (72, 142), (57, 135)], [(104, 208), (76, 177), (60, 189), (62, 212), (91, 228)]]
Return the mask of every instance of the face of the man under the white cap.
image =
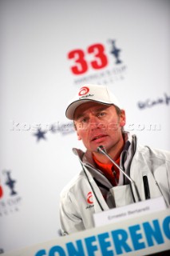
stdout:
[(74, 124), (77, 137), (87, 150), (97, 151), (100, 145), (108, 151), (114, 150), (122, 143), (121, 128), (125, 126), (125, 111), (121, 110), (118, 115), (113, 105), (85, 102), (75, 110)]

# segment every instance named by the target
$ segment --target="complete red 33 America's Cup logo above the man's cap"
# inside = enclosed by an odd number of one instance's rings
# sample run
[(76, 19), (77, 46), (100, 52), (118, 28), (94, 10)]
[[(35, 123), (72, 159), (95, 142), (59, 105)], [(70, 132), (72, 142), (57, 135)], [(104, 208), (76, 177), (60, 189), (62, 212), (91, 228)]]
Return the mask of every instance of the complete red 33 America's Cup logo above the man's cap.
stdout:
[(110, 85), (125, 79), (127, 66), (121, 52), (118, 42), (113, 39), (69, 50), (67, 58), (73, 83), (78, 86), (85, 83)]

